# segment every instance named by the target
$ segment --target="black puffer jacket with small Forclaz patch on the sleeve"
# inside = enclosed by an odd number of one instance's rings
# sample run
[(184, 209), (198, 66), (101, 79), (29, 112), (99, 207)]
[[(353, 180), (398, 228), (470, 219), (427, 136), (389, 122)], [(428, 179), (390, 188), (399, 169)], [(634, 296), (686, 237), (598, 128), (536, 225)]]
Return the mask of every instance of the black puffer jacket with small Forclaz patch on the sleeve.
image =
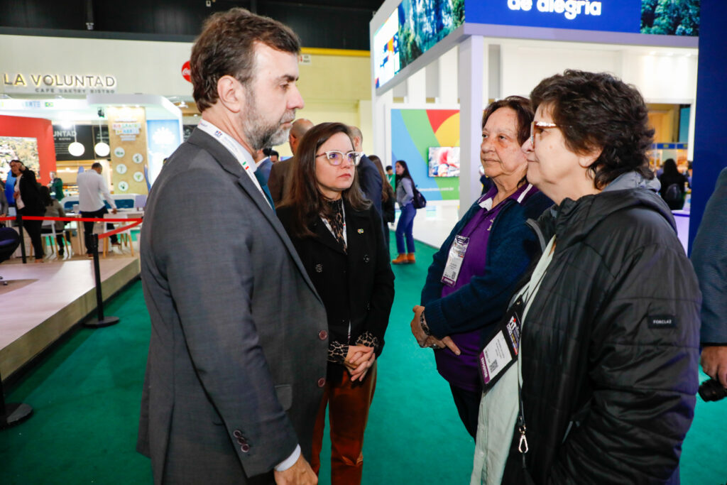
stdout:
[[(529, 473), (537, 484), (677, 484), (701, 296), (669, 208), (643, 188), (604, 191), (565, 199), (537, 227), (556, 246), (523, 326)], [(505, 484), (527, 483), (519, 438)]]

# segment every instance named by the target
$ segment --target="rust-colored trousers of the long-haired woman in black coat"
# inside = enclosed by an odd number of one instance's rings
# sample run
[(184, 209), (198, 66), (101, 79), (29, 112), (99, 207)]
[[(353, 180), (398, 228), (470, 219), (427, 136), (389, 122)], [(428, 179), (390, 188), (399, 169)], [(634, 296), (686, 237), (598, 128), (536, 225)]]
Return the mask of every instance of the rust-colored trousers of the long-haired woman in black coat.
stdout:
[(348, 372), (340, 382), (326, 382), (316, 426), (313, 428), (313, 457), (310, 466), (318, 475), (321, 468), (321, 447), (326, 427), (326, 406), (331, 428), (331, 484), (361, 484), (364, 471), (364, 430), (369, 420), (369, 407), (376, 388), (376, 366), (369, 369), (364, 385), (353, 387)]

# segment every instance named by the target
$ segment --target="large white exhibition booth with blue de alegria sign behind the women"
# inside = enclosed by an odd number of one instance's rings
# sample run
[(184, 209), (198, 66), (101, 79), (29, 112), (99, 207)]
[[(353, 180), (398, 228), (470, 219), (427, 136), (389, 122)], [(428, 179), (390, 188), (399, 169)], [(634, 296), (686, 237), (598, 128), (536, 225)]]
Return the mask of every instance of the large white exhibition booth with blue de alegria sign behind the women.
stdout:
[(664, 19), (644, 17), (641, 0), (442, 5), (438, 12), (426, 2), (387, 0), (370, 24), (374, 153), (385, 164), (405, 160), (430, 201), (417, 215), (415, 236), (438, 246), (480, 194), (483, 108), (509, 95), (527, 97), (539, 81), (569, 68), (608, 71), (638, 87), (656, 130), (654, 169), (673, 158), (686, 170), (698, 8), (696, 25), (678, 19), (683, 35), (664, 35), (654, 33), (669, 33), (658, 28)]

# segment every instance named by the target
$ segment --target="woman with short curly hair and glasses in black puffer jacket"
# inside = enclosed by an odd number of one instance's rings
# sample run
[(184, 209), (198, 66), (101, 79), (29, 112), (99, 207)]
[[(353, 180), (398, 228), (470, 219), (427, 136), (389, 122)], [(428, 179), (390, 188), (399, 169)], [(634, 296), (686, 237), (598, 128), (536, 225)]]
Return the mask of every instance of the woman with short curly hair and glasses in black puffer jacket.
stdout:
[(678, 484), (701, 297), (654, 191), (646, 104), (584, 71), (530, 97), (528, 180), (555, 208), (531, 225), (542, 256), (483, 345), (472, 483)]

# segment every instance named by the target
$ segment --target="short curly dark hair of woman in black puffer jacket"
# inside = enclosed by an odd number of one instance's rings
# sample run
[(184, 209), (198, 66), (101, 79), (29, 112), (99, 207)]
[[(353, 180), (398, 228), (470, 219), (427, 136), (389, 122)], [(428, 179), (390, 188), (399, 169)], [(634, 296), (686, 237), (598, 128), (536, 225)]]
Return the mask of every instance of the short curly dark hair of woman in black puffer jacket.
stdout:
[(540, 81), (530, 100), (535, 111), (545, 105), (569, 150), (603, 150), (588, 168), (595, 188), (627, 172), (654, 178), (646, 154), (654, 129), (648, 126), (646, 103), (634, 86), (608, 73), (569, 69)]

